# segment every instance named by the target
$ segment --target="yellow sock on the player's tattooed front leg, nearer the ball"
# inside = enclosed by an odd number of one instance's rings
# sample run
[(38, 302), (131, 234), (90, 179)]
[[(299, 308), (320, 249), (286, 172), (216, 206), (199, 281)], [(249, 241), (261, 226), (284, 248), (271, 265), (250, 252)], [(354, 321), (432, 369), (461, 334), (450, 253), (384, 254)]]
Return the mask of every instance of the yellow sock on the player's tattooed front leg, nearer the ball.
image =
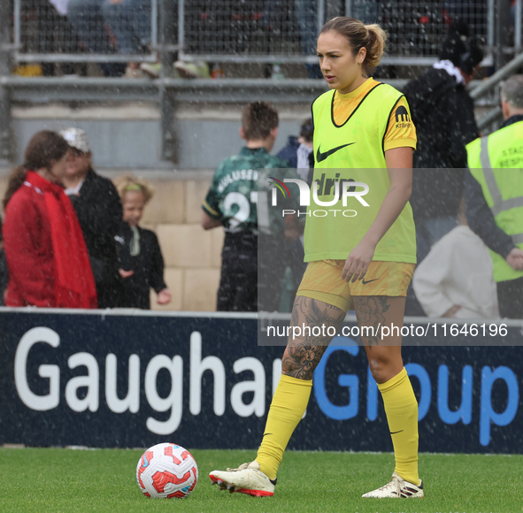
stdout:
[(311, 387), (312, 379), (296, 379), (281, 374), (256, 456), (260, 471), (269, 479), (276, 477), (288, 440), (304, 417)]

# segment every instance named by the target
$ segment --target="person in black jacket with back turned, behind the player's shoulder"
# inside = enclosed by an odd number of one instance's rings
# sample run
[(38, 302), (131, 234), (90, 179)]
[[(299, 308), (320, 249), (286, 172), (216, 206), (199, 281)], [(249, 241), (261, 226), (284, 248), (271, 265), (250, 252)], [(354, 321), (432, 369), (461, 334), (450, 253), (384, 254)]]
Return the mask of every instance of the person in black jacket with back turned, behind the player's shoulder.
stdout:
[[(465, 86), (482, 59), (483, 52), (468, 27), (457, 20), (443, 42), (440, 60), (404, 88), (418, 134), (410, 199), (418, 264), (443, 235), (458, 226), (465, 188), (465, 145), (479, 136), (473, 99)], [(425, 315), (412, 287), (405, 314)]]

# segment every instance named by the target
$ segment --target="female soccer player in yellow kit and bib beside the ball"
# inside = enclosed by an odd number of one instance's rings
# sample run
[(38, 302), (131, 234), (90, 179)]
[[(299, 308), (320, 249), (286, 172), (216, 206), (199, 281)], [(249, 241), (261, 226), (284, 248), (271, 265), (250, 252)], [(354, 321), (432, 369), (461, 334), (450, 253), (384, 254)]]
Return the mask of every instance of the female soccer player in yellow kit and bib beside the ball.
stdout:
[[(328, 207), (332, 215), (307, 216), (305, 261), (310, 264), (296, 294), (291, 325), (337, 330), (348, 310), (356, 310), (360, 330), (403, 325), (405, 295), (416, 262), (408, 203), (416, 134), (404, 96), (367, 78), (368, 68), (380, 62), (385, 39), (381, 27), (352, 18), (332, 19), (319, 34), (319, 65), (334, 90), (312, 104), (314, 181), (320, 202), (338, 200)], [(363, 184), (349, 190), (361, 191), (364, 203), (356, 197), (343, 199), (352, 181)], [(311, 201), (310, 210), (315, 209), (326, 207)], [(331, 339), (289, 338), (256, 460), (238, 469), (212, 471), (212, 482), (230, 492), (273, 495), (283, 452), (309, 402), (313, 371)], [(390, 482), (363, 496), (423, 497), (418, 403), (404, 369), (401, 335), (396, 330), (381, 338), (369, 330), (363, 342), (396, 457)]]

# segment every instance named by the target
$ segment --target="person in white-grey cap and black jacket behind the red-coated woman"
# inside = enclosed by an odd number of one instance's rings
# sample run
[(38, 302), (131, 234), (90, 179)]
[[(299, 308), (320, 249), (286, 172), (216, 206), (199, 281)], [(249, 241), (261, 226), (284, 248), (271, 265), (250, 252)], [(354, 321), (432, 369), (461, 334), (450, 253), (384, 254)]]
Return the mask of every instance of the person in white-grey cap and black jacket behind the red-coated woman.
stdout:
[(80, 128), (60, 133), (71, 148), (65, 194), (80, 221), (96, 283), (98, 308), (116, 308), (121, 295), (117, 245), (122, 208), (112, 181), (96, 174), (87, 135)]

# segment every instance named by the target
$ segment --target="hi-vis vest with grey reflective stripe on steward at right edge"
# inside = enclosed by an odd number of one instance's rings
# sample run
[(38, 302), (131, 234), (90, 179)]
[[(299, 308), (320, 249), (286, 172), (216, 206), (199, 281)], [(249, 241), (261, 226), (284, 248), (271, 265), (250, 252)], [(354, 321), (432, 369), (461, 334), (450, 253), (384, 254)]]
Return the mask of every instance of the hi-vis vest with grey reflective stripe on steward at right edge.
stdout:
[[(496, 225), (523, 249), (523, 121), (476, 139), (466, 151), (470, 172), (481, 185)], [(488, 251), (496, 282), (523, 277), (523, 271), (515, 271), (504, 257)]]

